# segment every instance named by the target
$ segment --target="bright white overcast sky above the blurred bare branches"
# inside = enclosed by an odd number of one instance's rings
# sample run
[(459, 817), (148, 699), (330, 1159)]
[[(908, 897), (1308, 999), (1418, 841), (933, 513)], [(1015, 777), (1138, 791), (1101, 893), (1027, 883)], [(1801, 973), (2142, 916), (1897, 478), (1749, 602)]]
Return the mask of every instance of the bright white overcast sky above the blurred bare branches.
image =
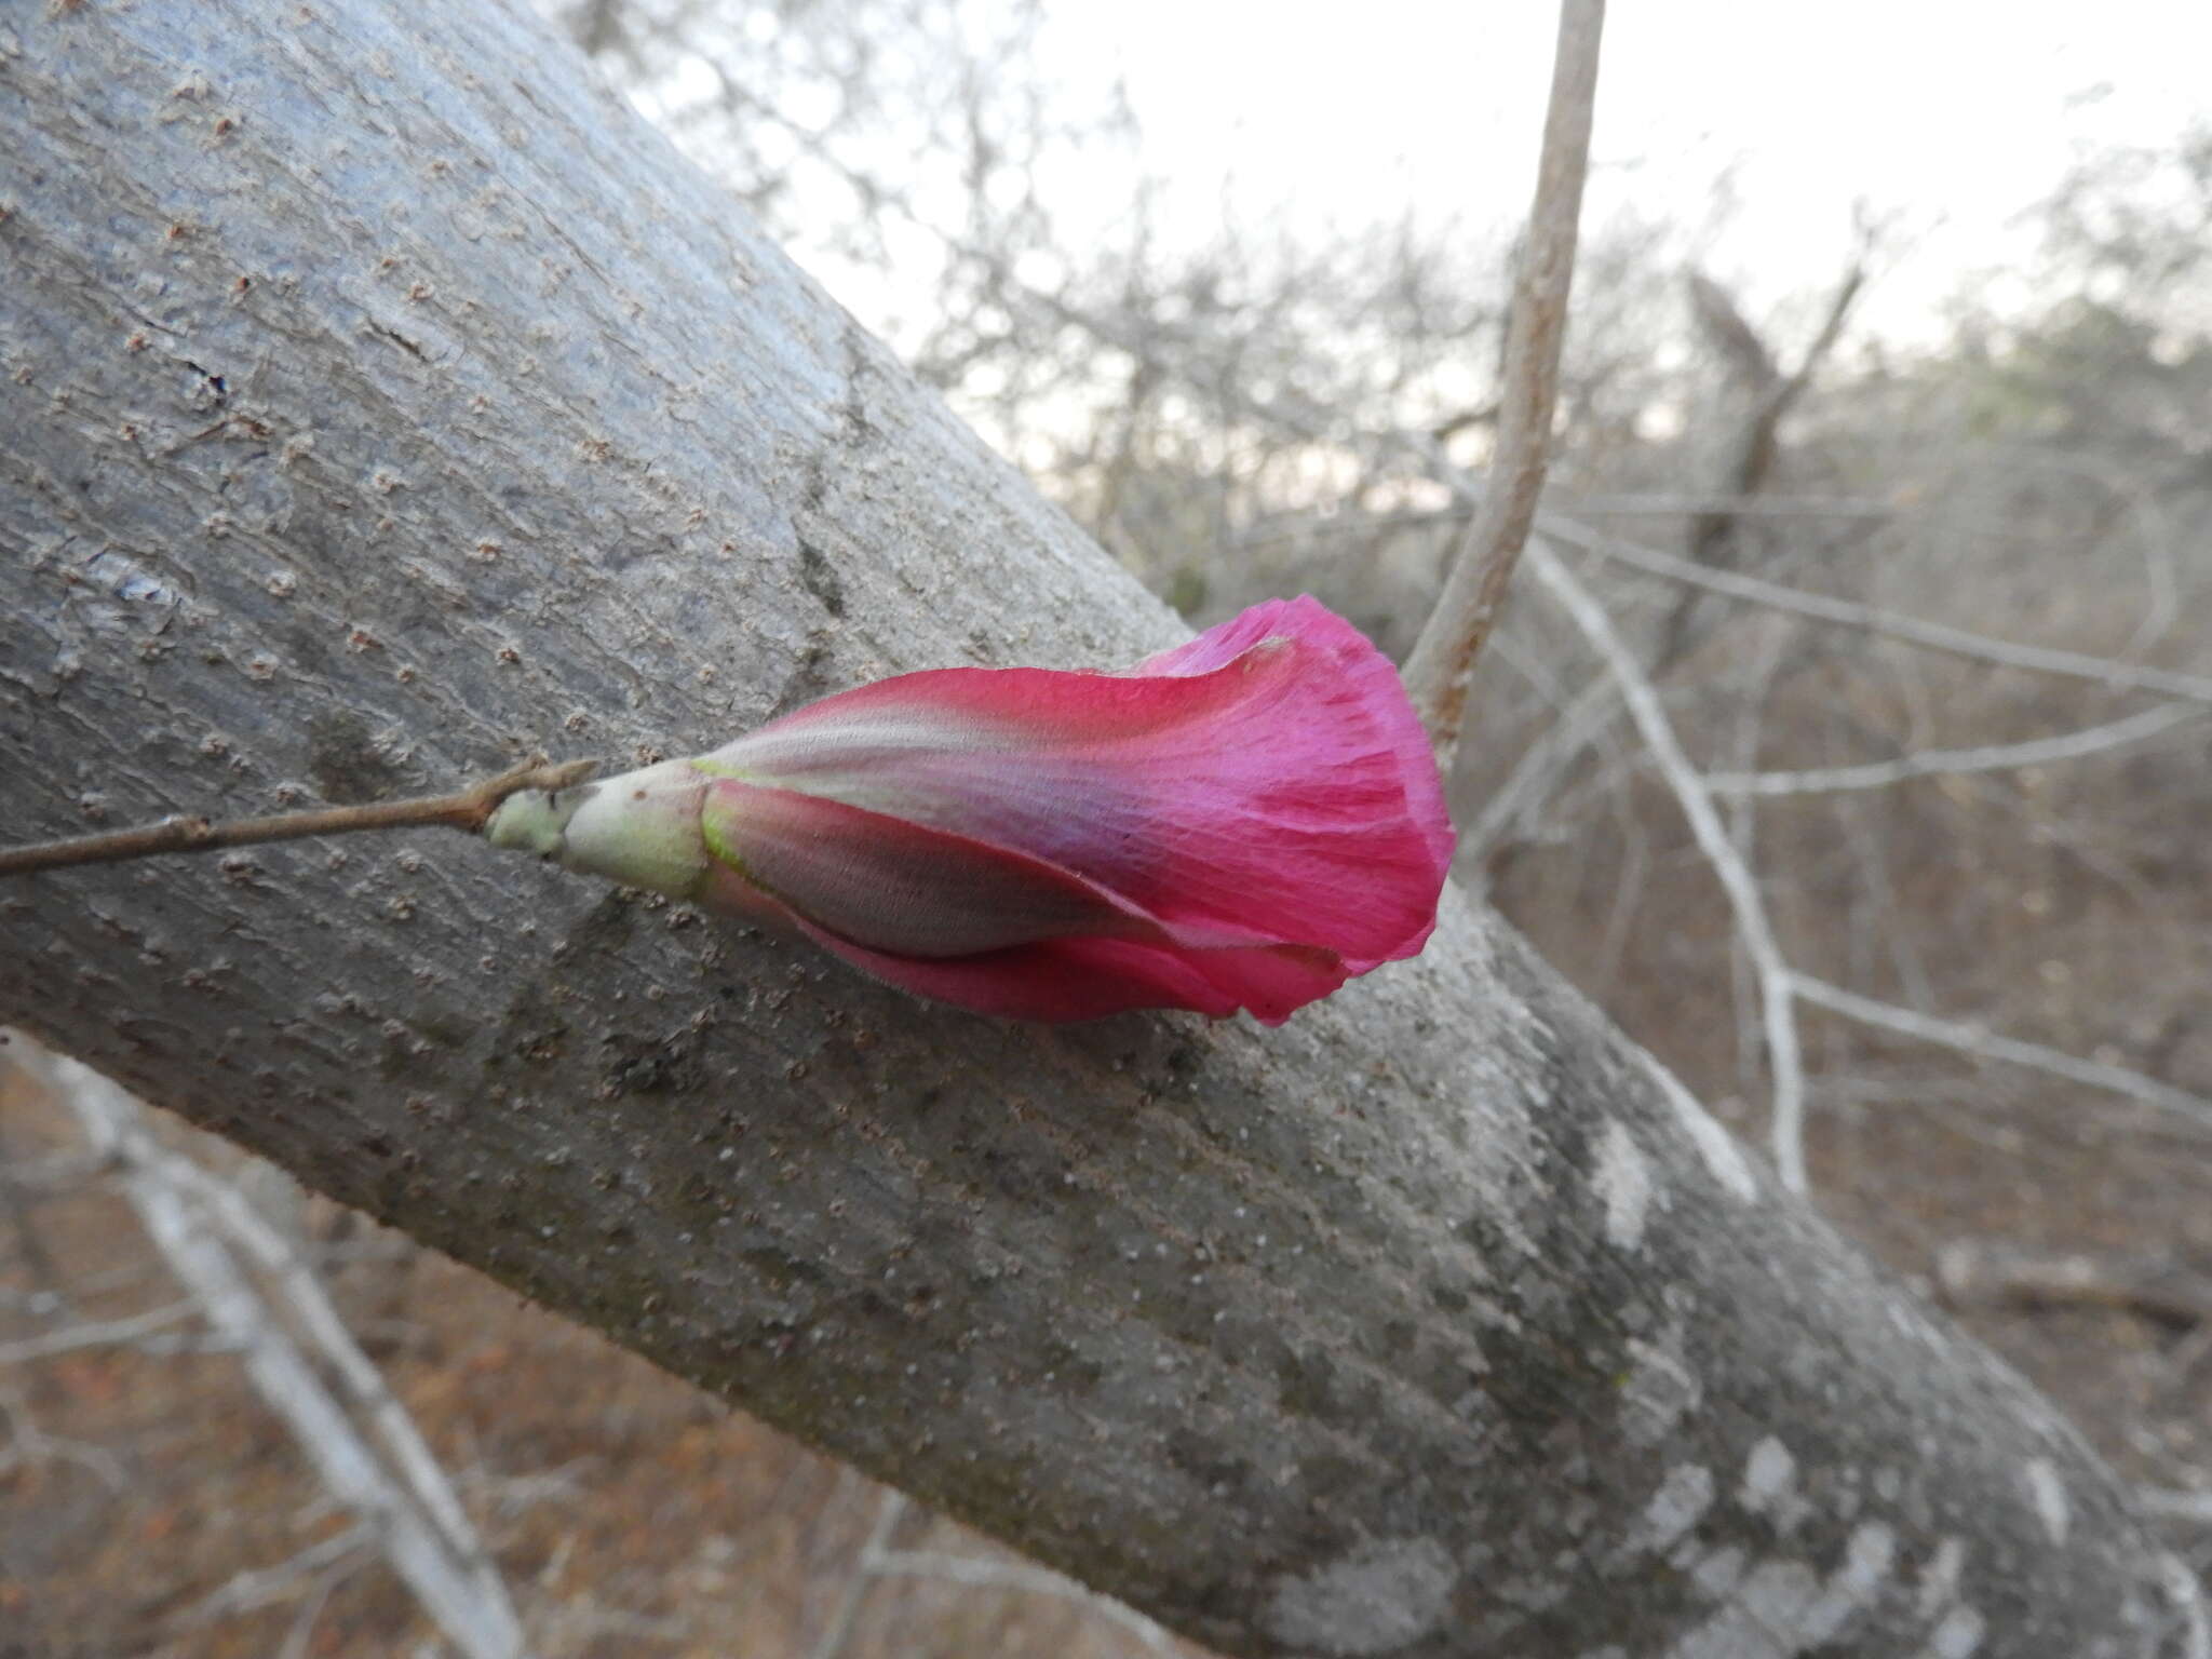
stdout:
[[(1515, 223), (1551, 77), (1551, 0), (1084, 0), (1046, 64), (1119, 69), (1146, 153), (1201, 228), (1225, 173), (1294, 217)], [(2212, 113), (2212, 0), (1619, 0), (1606, 20), (1590, 210), (1703, 219), (1734, 168), (1714, 270), (1754, 301), (1825, 288), (1851, 204), (1907, 234), (1863, 319), (1913, 332), (2084, 148), (2159, 144)], [(1590, 221), (1595, 223), (1595, 219)]]

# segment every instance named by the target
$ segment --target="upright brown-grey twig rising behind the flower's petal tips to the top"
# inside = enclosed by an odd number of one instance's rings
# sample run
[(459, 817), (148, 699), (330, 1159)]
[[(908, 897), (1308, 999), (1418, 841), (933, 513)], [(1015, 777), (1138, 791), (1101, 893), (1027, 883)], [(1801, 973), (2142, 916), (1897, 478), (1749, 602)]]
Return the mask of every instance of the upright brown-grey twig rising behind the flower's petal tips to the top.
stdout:
[(1590, 115), (1597, 108), (1597, 46), (1604, 0), (1562, 0), (1559, 46), (1551, 69), (1551, 108), (1537, 161), (1528, 237), (1513, 279), (1504, 389), (1491, 487), (1460, 538), (1451, 575), (1407, 659), (1405, 679), (1429, 737), (1449, 752), (1460, 737), (1467, 681), (1489, 639), (1528, 540), (1544, 491), (1553, 405), (1559, 396), (1559, 343), (1575, 279), (1582, 181), (1590, 166)]

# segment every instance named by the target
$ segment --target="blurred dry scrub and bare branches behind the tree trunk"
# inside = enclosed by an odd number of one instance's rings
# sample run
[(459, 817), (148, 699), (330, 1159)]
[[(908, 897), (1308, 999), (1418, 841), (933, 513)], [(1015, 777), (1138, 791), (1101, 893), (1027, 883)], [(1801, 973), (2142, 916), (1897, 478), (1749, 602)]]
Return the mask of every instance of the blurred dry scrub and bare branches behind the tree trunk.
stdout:
[[(1223, 186), (1192, 234), (1181, 157), (1110, 82), (1066, 95), (1037, 7), (546, 11), (1194, 626), (1305, 591), (1411, 646), (1464, 520), (1440, 469), (1480, 471), (1495, 418), (1511, 228), (1380, 184), (1374, 217), (1312, 221)], [(1604, 108), (1601, 82), (1601, 133)], [(1867, 316), (1900, 274), (1942, 285), (1911, 212), (1863, 204), (1834, 270), (1781, 281), (1728, 241), (1750, 215), (1723, 175), (1586, 223), (1557, 546), (1812, 987), (1812, 1201), (2068, 1407), (2205, 1566), (2212, 104), (2079, 153), (2002, 281), (1960, 270), (1909, 327)], [(1619, 684), (1526, 582), (1453, 810), (1462, 880), (1765, 1144), (1756, 964)], [(0, 1626), (55, 1652), (456, 1650), (66, 1099), (7, 1088)], [(316, 1267), (533, 1652), (1177, 1648), (226, 1148), (157, 1139)], [(270, 1318), (310, 1343), (281, 1298)]]

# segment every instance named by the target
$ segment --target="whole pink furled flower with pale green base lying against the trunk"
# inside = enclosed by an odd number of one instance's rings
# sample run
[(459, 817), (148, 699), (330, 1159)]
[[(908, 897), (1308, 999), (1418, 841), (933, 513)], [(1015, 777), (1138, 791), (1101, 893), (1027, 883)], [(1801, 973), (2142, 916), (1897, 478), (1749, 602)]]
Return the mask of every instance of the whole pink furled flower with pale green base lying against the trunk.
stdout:
[(1314, 599), (1119, 675), (898, 675), (487, 836), (1024, 1020), (1281, 1024), (1420, 951), (1451, 860), (1398, 675)]

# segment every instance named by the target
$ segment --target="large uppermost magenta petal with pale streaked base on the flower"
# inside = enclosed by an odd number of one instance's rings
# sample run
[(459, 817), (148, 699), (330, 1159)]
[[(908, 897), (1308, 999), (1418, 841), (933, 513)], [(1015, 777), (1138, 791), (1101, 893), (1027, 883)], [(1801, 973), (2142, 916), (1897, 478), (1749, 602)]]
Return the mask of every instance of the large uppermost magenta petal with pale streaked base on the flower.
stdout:
[(900, 675), (701, 765), (1053, 865), (1192, 951), (1303, 947), (1352, 973), (1420, 949), (1451, 856), (1396, 672), (1312, 599), (1128, 675)]

